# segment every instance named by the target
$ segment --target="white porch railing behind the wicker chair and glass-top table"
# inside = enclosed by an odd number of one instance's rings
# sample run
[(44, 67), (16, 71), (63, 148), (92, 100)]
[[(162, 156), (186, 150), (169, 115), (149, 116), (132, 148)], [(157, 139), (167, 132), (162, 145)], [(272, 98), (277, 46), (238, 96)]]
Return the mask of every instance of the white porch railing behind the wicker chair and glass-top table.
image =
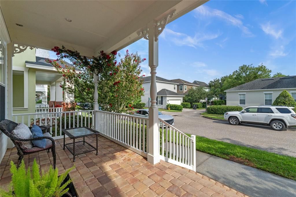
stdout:
[[(31, 125), (50, 125), (54, 139), (63, 138), (62, 129), (73, 127), (94, 128), (94, 110), (70, 112), (45, 112), (31, 114), (12, 114), (12, 121)], [(41, 122), (40, 122), (41, 120)]]

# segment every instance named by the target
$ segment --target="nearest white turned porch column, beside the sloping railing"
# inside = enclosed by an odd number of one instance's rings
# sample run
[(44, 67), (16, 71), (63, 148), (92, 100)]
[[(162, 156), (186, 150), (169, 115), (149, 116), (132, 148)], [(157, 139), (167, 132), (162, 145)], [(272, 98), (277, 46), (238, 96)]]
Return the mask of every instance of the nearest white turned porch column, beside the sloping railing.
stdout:
[(156, 68), (158, 66), (158, 40), (155, 28), (155, 21), (148, 23), (149, 28), (149, 67), (151, 69), (150, 97), (151, 106), (149, 108), (149, 140), (147, 160), (152, 164), (160, 162), (159, 159), (159, 127), (158, 108), (156, 106)]

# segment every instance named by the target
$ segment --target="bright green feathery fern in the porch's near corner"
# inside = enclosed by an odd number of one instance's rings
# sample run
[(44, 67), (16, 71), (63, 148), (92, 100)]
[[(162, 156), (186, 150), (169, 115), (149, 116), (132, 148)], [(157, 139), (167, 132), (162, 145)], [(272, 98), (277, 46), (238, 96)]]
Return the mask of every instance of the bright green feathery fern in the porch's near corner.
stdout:
[[(40, 175), (39, 165), (34, 159), (32, 172), (30, 167), (27, 172), (25, 163), (22, 160), (20, 167), (10, 162), (10, 172), (12, 174), (9, 191), (0, 189), (0, 196), (3, 197), (64, 197), (77, 196), (75, 190), (69, 191), (69, 184), (72, 182), (68, 173), (75, 168), (73, 166), (66, 172), (58, 176), (58, 169), (49, 167), (47, 172), (42, 170)], [(68, 178), (68, 180), (66, 180)], [(71, 183), (72, 184), (72, 183)]]

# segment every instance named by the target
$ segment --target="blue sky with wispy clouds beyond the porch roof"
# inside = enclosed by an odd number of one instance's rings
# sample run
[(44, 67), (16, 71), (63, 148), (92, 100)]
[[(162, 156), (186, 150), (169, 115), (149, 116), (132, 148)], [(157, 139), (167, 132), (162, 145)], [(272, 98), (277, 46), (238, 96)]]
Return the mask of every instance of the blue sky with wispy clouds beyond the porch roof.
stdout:
[[(205, 81), (231, 74), (242, 64), (261, 63), (296, 75), (296, 1), (208, 1), (166, 25), (159, 36), (157, 76)], [(148, 41), (119, 52), (136, 52), (147, 61)]]

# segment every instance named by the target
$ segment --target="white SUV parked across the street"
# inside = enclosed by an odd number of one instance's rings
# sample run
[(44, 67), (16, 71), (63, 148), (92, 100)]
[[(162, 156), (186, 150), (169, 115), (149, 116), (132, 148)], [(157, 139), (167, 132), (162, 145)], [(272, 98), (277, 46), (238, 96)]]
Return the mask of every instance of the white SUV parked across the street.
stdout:
[(231, 125), (238, 125), (239, 123), (270, 125), (272, 129), (282, 131), (285, 127), (296, 125), (296, 114), (292, 109), (294, 107), (247, 107), (240, 112), (226, 112), (224, 119), (228, 120)]

